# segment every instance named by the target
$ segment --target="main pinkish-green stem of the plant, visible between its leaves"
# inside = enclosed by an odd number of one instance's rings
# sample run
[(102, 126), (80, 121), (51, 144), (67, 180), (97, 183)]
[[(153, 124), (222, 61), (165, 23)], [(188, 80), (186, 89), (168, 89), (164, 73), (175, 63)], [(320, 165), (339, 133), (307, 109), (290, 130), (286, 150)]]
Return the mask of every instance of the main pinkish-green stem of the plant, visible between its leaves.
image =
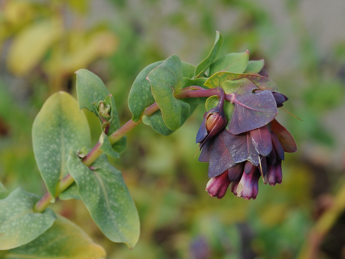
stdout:
[[(176, 99), (183, 99), (183, 98), (193, 98), (193, 97), (209, 97), (213, 95), (221, 95), (221, 92), (223, 92), (223, 89), (220, 87), (217, 88), (211, 88), (211, 89), (205, 89), (200, 86), (189, 86), (186, 88), (183, 88), (179, 90), (175, 94)], [(147, 107), (145, 111), (142, 113), (142, 115), (150, 116), (156, 111), (158, 111), (159, 107), (157, 103), (154, 103)], [(122, 127), (120, 127), (117, 131), (112, 133), (109, 136), (109, 141), (111, 144), (114, 144), (118, 140), (120, 140), (121, 137), (125, 136), (127, 132), (132, 130), (135, 126), (140, 124), (141, 118), (138, 120), (138, 122), (134, 122), (131, 119), (126, 122)], [(90, 166), (96, 159), (99, 157), (103, 152), (100, 150), (100, 142), (97, 142), (97, 144), (90, 150), (90, 152), (83, 158), (82, 162), (86, 166)], [(53, 198), (56, 198), (61, 192), (65, 191), (72, 183), (74, 182), (74, 179), (70, 174), (67, 174), (63, 179), (61, 179), (57, 185), (56, 190), (56, 196), (53, 197), (49, 192), (47, 192), (43, 197), (34, 205), (33, 211), (34, 212), (42, 212), (44, 211), (48, 205), (51, 203)]]

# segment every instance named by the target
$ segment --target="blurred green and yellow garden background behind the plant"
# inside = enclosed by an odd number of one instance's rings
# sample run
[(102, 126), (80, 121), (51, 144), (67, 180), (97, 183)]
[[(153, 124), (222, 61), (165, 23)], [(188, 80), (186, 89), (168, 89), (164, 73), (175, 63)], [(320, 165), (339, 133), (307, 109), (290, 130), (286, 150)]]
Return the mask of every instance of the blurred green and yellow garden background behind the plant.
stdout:
[[(75, 75), (87, 68), (114, 95), (122, 124), (131, 118), (127, 96), (146, 65), (177, 54), (198, 64), (215, 31), (220, 56), (250, 51), (284, 105), (278, 121), (294, 135), (283, 183), (259, 182), (256, 200), (229, 190), (205, 192), (207, 163), (194, 157), (205, 107), (172, 135), (147, 125), (128, 136), (120, 159), (137, 205), (141, 236), (133, 250), (107, 240), (79, 200), (51, 207), (76, 222), (111, 259), (296, 258), (308, 232), (345, 182), (345, 2), (343, 0), (2, 0), (0, 1), (0, 181), (10, 190), (43, 195), (31, 126), (48, 96), (76, 96)], [(85, 111), (93, 144), (98, 119)], [(321, 245), (319, 258), (345, 258), (345, 214)]]

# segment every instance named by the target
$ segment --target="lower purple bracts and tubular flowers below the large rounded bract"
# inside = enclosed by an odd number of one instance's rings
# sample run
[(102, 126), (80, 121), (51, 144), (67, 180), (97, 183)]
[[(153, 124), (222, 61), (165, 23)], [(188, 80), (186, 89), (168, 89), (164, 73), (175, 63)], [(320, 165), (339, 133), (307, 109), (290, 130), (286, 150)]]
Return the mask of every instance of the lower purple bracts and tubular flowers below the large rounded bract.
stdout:
[(211, 179), (206, 190), (220, 199), (232, 182), (235, 195), (255, 199), (259, 178), (263, 177), (265, 184), (282, 183), (284, 152), (296, 151), (292, 135), (275, 119), (269, 125), (237, 135), (223, 128), (204, 143), (199, 156), (199, 161), (209, 162)]

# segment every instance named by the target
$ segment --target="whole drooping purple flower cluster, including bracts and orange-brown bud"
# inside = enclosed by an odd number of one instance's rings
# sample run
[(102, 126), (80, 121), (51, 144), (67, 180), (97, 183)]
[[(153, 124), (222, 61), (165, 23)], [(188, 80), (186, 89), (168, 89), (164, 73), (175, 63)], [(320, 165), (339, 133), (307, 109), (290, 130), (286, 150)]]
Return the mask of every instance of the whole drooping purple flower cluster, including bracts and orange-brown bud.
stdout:
[[(218, 199), (223, 198), (230, 183), (231, 192), (248, 200), (256, 198), (260, 176), (265, 184), (282, 183), (284, 152), (297, 151), (293, 136), (276, 121), (276, 114), (269, 115), (271, 117), (265, 125), (253, 126), (260, 123), (255, 114), (258, 109), (265, 105), (269, 107), (267, 103), (270, 100), (275, 101), (273, 108), (276, 109), (283, 106), (288, 98), (269, 90), (245, 92), (245, 87), (225, 95), (226, 100), (235, 104), (228, 124), (221, 93), (218, 105), (205, 113), (196, 138), (196, 143), (200, 143), (202, 148), (199, 161), (209, 162), (208, 176), (211, 179), (206, 191)], [(267, 121), (267, 117), (265, 119)]]

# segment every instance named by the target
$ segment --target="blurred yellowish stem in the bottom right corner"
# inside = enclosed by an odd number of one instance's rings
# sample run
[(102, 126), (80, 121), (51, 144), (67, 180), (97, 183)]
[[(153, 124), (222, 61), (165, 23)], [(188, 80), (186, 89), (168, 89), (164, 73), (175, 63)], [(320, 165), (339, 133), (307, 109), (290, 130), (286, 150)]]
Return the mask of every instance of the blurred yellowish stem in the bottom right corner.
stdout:
[(319, 247), (326, 234), (334, 226), (336, 220), (345, 210), (345, 183), (338, 191), (332, 206), (327, 209), (317, 220), (315, 226), (309, 233), (309, 237), (304, 243), (297, 259), (318, 258)]

